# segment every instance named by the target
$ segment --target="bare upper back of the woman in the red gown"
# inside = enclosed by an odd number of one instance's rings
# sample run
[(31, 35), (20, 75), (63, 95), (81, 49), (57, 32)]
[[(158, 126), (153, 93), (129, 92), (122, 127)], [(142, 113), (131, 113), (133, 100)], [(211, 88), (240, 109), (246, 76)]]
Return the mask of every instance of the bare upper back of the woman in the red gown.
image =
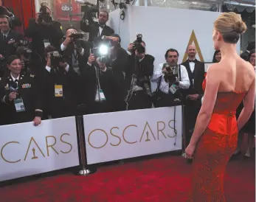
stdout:
[(224, 58), (218, 63), (220, 92), (247, 92), (255, 82), (255, 69), (242, 58)]

